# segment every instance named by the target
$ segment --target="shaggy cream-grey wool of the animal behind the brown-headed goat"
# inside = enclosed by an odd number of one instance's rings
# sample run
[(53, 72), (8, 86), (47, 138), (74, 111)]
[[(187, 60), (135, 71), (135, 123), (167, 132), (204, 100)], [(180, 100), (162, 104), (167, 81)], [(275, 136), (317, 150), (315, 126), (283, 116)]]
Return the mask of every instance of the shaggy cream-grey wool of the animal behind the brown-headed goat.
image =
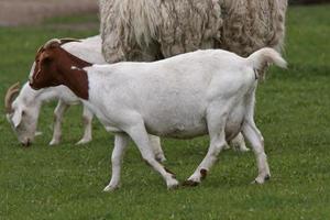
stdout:
[(279, 51), (286, 8), (287, 0), (100, 0), (103, 55), (113, 63), (199, 48)]

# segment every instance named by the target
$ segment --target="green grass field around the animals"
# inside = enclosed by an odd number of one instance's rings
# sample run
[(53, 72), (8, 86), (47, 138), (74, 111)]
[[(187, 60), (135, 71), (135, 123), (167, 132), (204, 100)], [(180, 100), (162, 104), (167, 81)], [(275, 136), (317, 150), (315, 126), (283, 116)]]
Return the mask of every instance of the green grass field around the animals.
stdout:
[[(64, 120), (61, 145), (47, 146), (55, 102), (40, 119), (44, 132), (22, 147), (0, 116), (0, 219), (330, 219), (330, 4), (295, 7), (287, 14), (287, 70), (272, 68), (257, 91), (256, 123), (265, 138), (272, 180), (256, 176), (253, 153), (224, 151), (196, 188), (168, 191), (131, 144), (122, 188), (102, 193), (110, 178), (113, 135), (95, 120), (94, 141), (81, 136), (81, 107)], [(84, 37), (98, 29), (57, 26), (96, 21), (59, 18), (38, 26), (0, 29), (0, 94), (26, 81), (36, 48), (52, 37)], [(0, 103), (3, 109), (3, 103)], [(207, 138), (163, 140), (166, 166), (182, 182), (202, 160)]]

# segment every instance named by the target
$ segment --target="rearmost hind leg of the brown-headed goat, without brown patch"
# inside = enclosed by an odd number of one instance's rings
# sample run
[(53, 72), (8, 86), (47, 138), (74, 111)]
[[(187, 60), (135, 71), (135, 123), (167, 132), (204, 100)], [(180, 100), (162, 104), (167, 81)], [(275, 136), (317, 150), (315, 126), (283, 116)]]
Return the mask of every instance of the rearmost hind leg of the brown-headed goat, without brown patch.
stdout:
[(256, 157), (258, 175), (255, 178), (254, 183), (263, 184), (265, 180), (271, 178), (271, 173), (267, 163), (267, 155), (264, 151), (264, 139), (256, 128), (253, 119), (244, 122), (243, 134), (251, 143), (252, 150)]

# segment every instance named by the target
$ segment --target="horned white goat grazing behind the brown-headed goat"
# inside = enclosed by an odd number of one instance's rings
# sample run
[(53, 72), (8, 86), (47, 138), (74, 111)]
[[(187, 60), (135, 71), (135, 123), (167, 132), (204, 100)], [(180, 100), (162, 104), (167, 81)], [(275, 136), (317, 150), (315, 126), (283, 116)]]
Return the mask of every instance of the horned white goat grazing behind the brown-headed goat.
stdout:
[[(79, 41), (64, 40), (62, 43), (64, 50), (84, 61), (95, 64), (106, 63), (101, 53), (101, 38), (99, 35)], [(34, 70), (34, 67), (35, 63), (33, 63), (31, 72)], [(35, 91), (26, 82), (19, 96), (13, 100), (14, 95), (19, 92), (18, 88), (19, 85), (16, 84), (8, 89), (6, 106), (8, 119), (11, 122), (19, 141), (23, 145), (30, 145), (32, 143), (42, 103), (52, 99), (59, 99), (54, 111), (54, 133), (50, 145), (58, 144), (62, 136), (61, 127), (63, 114), (69, 106), (80, 103), (79, 99), (65, 86)], [(92, 113), (84, 107), (82, 122), (85, 132), (82, 139), (77, 144), (91, 141), (91, 120)]]

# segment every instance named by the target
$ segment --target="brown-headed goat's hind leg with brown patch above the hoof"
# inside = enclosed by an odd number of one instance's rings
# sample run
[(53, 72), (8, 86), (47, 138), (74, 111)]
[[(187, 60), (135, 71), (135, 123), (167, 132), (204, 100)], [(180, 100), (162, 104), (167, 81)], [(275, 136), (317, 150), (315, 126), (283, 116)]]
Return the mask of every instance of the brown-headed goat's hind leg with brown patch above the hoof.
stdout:
[(210, 146), (206, 157), (199, 164), (194, 174), (184, 183), (185, 186), (197, 186), (206, 176), (222, 148), (226, 147), (224, 122), (226, 114), (220, 112), (208, 116), (208, 131), (210, 135)]

